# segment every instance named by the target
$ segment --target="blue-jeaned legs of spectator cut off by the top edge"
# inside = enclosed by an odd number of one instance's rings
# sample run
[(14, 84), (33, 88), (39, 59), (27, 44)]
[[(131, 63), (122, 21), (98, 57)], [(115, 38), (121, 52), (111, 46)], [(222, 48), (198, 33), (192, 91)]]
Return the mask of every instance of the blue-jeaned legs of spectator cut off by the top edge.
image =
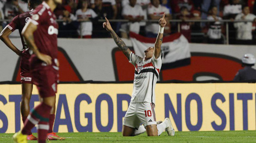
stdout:
[(217, 15), (219, 15), (219, 8), (220, 8), (221, 0), (203, 0), (202, 2), (202, 19), (207, 19), (208, 11), (213, 4), (217, 8)]

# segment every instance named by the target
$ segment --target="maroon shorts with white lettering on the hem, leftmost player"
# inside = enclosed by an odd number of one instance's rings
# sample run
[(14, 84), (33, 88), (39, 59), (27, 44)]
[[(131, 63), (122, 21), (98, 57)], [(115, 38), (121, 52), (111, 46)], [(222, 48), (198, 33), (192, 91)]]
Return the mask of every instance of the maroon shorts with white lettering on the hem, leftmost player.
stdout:
[(30, 54), (28, 50), (24, 50), (20, 59), (20, 82), (33, 84), (32, 74), (29, 68)]

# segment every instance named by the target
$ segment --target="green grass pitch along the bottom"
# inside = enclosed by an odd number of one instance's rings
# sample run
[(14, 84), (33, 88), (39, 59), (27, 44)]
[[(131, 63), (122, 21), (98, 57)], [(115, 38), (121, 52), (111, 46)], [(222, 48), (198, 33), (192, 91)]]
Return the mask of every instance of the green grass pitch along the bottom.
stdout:
[[(1, 143), (12, 143), (13, 134), (0, 134)], [(256, 131), (190, 131), (176, 132), (175, 136), (167, 136), (163, 132), (161, 136), (148, 137), (146, 133), (134, 137), (122, 137), (121, 133), (115, 132), (80, 132), (80, 133), (58, 133), (66, 137), (65, 141), (48, 141), (47, 143), (88, 143), (88, 142), (256, 142)], [(35, 134), (35, 136), (37, 136)], [(37, 141), (28, 141), (36, 143)]]

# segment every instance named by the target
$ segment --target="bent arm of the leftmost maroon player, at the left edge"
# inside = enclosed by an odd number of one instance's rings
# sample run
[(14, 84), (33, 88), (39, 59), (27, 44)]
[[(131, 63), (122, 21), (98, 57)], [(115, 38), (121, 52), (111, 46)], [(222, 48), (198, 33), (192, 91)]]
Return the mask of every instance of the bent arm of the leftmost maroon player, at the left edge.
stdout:
[(13, 50), (13, 52), (15, 52), (17, 55), (21, 55), (22, 51), (20, 51), (17, 47), (15, 47), (13, 45), (13, 43), (11, 42), (9, 35), (12, 33), (13, 31), (8, 28), (7, 26), (3, 29), (3, 31), (0, 33), (0, 39), (4, 42), (5, 45), (7, 45), (11, 50)]

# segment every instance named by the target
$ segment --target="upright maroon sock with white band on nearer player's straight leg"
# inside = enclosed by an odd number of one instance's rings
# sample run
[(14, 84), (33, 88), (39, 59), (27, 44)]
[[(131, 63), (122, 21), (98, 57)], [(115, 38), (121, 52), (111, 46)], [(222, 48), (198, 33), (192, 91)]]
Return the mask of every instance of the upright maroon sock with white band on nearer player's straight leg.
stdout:
[(38, 123), (38, 143), (45, 143), (46, 136), (49, 131), (49, 122), (39, 122)]

